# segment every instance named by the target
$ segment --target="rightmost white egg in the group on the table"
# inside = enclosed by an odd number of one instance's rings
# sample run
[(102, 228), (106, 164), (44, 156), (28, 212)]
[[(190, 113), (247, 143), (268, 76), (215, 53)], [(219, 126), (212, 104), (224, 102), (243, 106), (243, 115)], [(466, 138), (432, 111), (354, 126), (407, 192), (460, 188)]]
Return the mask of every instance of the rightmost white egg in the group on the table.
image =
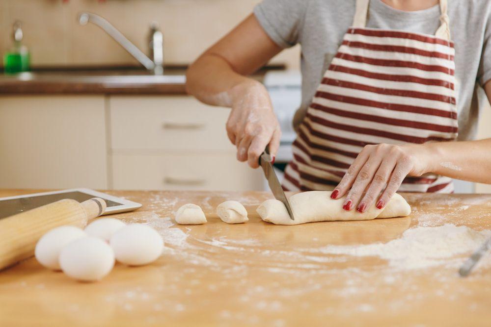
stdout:
[(150, 226), (130, 224), (112, 235), (109, 242), (116, 260), (130, 266), (155, 261), (164, 247), (162, 236)]

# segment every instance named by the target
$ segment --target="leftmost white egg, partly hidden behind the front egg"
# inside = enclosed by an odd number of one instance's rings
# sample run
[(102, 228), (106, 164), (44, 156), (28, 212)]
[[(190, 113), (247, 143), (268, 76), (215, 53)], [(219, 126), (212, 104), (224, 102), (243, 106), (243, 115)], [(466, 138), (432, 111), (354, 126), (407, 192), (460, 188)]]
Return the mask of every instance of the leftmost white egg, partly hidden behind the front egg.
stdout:
[(34, 255), (46, 268), (60, 270), (58, 257), (61, 249), (68, 243), (85, 237), (87, 234), (75, 226), (60, 226), (44, 234), (36, 244)]

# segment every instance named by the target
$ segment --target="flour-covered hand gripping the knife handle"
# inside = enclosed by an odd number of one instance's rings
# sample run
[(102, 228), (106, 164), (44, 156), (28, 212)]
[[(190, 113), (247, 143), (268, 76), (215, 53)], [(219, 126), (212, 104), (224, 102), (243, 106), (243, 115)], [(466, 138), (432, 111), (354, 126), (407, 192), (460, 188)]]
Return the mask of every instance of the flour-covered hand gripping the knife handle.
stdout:
[(227, 135), (237, 147), (237, 159), (259, 167), (259, 156), (269, 145), (273, 157), (279, 148), (281, 130), (268, 91), (249, 80), (229, 91), (232, 111), (226, 124)]

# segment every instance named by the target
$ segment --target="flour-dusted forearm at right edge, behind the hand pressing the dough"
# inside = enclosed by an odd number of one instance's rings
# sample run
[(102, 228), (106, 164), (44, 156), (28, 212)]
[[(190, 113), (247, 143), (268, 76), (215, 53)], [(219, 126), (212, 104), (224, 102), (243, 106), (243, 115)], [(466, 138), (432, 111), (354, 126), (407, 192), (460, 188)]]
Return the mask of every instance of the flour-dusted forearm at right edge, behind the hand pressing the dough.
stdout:
[(428, 163), (423, 173), (491, 184), (491, 139), (427, 143), (419, 147)]

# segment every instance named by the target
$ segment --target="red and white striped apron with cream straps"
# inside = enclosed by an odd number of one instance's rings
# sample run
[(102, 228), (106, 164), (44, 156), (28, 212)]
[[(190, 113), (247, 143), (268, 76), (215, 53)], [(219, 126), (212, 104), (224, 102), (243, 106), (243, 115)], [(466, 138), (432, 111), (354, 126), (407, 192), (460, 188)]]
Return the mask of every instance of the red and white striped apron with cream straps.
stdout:
[[(447, 1), (436, 35), (366, 28), (369, 0), (307, 108), (285, 170), (289, 191), (332, 190), (365, 145), (453, 141), (458, 121)], [(402, 192), (453, 192), (452, 179), (406, 177)]]

